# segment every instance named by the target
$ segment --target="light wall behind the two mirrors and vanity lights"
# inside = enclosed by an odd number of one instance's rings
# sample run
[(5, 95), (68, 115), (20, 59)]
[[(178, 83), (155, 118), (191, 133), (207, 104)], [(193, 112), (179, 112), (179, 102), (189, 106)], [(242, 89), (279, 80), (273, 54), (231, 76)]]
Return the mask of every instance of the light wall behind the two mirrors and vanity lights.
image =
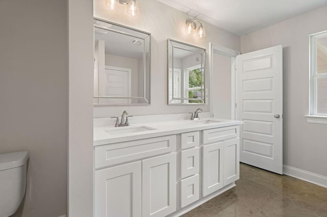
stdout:
[[(201, 107), (209, 111), (209, 105), (168, 105), (168, 69), (167, 69), (167, 39), (193, 44), (206, 48), (207, 75), (209, 75), (209, 42), (231, 49), (240, 50), (240, 37), (203, 22), (207, 36), (197, 38), (195, 34), (185, 33), (183, 12), (173, 9), (155, 0), (139, 0), (140, 14), (131, 17), (126, 13), (127, 7), (121, 6), (116, 12), (104, 10), (99, 1), (94, 1), (94, 15), (105, 20), (130, 26), (151, 33), (151, 105), (148, 106), (95, 106), (94, 117), (120, 116), (124, 110), (130, 115), (176, 114), (188, 113)], [(209, 80), (207, 76), (207, 80)], [(209, 85), (207, 83), (207, 88)], [(210, 103), (210, 102), (209, 102)], [(130, 120), (132, 123), (132, 119)]]

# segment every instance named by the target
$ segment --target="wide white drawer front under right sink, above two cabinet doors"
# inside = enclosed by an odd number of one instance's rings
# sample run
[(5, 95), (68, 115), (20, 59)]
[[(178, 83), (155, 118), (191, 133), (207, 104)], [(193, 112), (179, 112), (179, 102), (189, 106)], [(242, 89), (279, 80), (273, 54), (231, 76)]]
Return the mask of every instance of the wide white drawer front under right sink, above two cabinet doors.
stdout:
[(214, 129), (206, 129), (203, 133), (203, 144), (214, 143), (222, 140), (228, 140), (239, 137), (240, 126), (228, 126)]

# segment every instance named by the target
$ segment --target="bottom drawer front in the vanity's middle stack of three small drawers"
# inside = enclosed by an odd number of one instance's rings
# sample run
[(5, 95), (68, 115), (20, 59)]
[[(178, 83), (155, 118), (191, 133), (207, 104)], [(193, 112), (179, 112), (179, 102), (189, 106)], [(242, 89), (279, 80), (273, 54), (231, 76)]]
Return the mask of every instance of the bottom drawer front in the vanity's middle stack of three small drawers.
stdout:
[(180, 207), (183, 208), (199, 200), (199, 175), (180, 181)]

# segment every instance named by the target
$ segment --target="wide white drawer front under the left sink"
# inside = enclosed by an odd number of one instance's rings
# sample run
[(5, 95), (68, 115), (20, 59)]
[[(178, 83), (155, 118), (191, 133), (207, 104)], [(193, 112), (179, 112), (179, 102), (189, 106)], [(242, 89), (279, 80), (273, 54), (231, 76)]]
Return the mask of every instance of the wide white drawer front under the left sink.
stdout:
[(95, 147), (95, 168), (172, 152), (176, 149), (176, 135), (115, 143)]

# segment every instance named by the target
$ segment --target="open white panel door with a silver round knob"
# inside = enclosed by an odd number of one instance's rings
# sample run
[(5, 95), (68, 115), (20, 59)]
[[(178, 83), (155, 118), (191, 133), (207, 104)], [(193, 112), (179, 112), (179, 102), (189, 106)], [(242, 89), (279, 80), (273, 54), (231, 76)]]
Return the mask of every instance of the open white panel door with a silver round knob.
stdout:
[(239, 55), (236, 66), (240, 160), (283, 174), (283, 47)]

